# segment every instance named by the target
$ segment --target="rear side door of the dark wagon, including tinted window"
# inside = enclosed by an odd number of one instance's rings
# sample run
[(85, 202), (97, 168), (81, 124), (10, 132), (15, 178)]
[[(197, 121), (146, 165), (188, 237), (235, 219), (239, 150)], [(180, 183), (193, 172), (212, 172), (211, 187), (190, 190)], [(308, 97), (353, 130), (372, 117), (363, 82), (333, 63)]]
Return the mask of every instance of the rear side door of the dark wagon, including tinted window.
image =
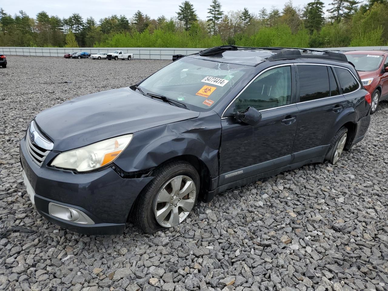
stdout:
[(293, 145), (293, 161), (298, 163), (324, 156), (333, 137), (333, 125), (346, 107), (331, 66), (296, 64), (299, 109), (298, 126)]

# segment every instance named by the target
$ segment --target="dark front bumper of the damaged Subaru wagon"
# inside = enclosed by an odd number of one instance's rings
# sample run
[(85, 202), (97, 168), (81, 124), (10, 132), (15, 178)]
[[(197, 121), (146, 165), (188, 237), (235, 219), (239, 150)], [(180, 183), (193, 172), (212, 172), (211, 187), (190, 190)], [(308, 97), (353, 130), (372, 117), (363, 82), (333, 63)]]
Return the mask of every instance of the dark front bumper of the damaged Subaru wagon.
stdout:
[[(33, 189), (31, 202), (35, 202), (38, 212), (81, 234), (123, 233), (132, 204), (152, 177), (121, 178), (111, 167), (85, 174), (47, 167), (56, 155), (50, 152), (42, 166), (38, 166), (29, 156), (25, 137), (20, 142), (21, 165)], [(49, 211), (50, 203), (80, 210), (94, 223), (80, 224), (55, 217)]]

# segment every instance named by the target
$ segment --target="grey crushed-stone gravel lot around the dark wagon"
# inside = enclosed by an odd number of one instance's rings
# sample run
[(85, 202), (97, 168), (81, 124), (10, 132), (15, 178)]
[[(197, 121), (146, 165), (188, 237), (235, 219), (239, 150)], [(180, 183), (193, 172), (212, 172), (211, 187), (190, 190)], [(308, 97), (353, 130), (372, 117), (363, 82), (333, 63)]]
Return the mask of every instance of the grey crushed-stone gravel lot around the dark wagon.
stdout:
[(0, 289), (388, 290), (388, 103), (336, 166), (308, 165), (226, 191), (185, 223), (83, 236), (41, 217), (19, 140), (36, 113), (132, 85), (169, 61), (8, 56), (0, 69)]

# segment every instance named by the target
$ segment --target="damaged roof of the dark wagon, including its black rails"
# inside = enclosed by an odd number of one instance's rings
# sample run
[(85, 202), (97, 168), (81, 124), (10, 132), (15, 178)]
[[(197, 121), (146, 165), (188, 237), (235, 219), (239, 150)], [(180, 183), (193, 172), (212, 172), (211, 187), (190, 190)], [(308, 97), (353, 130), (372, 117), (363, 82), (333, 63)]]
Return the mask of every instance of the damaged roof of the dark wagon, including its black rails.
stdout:
[(284, 47), (237, 47), (234, 45), (213, 47), (188, 57), (245, 66), (257, 66), (265, 61), (295, 60), (295, 62), (299, 62), (302, 59), (348, 63), (345, 55), (335, 52)]

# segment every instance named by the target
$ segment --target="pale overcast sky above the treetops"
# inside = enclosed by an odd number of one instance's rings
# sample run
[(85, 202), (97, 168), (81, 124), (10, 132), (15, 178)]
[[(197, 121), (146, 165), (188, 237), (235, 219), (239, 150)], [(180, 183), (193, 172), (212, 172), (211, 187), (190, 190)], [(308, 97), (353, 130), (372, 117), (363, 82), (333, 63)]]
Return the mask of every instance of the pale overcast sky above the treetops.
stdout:
[[(294, 6), (300, 5), (303, 7), (303, 5), (310, 1), (294, 0), (293, 4)], [(35, 17), (38, 12), (44, 10), (50, 16), (69, 17), (74, 12), (77, 12), (83, 18), (92, 16), (98, 21), (100, 18), (112, 14), (123, 14), (131, 18), (137, 10), (155, 19), (162, 14), (170, 18), (177, 16), (175, 12), (178, 11), (178, 5), (182, 2), (183, 0), (1, 0), (0, 7), (12, 16), (19, 10), (24, 10), (30, 17)], [(209, 8), (211, 0), (191, 0), (190, 2), (194, 5), (197, 15), (201, 19), (206, 19), (207, 9)], [(265, 7), (269, 11), (272, 5), (281, 10), (286, 1), (256, 0), (239, 2), (236, 0), (220, 0), (220, 2), (224, 12), (229, 10), (242, 10), (244, 7), (247, 7), (250, 12), (257, 14), (262, 7)], [(323, 0), (323, 2), (325, 3), (326, 11), (328, 3), (331, 1)]]

